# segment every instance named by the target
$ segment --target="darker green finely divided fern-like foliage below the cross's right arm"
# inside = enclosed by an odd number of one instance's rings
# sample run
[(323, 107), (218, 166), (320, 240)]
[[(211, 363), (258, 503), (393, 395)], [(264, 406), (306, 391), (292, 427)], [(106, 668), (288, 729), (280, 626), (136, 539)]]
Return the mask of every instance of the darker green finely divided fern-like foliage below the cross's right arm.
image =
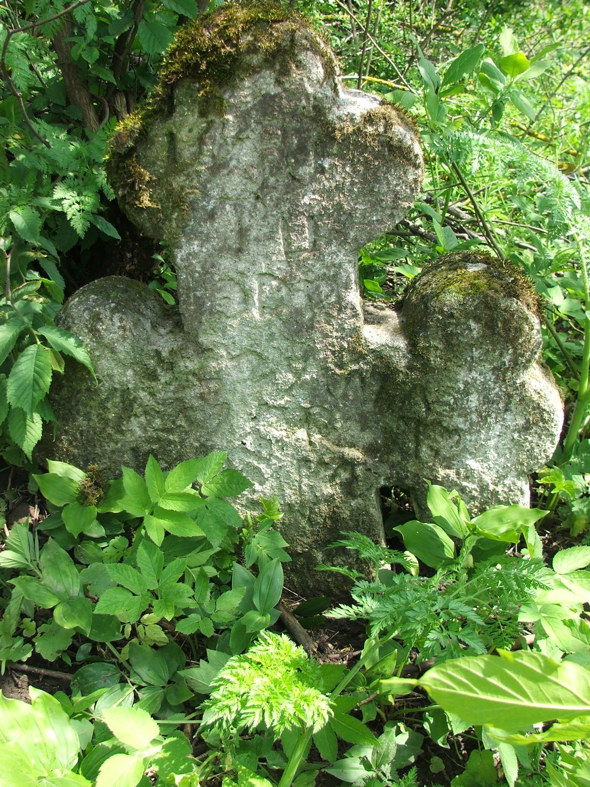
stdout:
[[(354, 534), (349, 544), (358, 538)], [(389, 632), (407, 651), (418, 648), (419, 660), (478, 655), (510, 648), (522, 634), (518, 611), (542, 586), (543, 572), (540, 561), (511, 556), (470, 570), (459, 557), (433, 577), (381, 571), (378, 579), (356, 580), (353, 604), (324, 614), (366, 619), (371, 637)]]

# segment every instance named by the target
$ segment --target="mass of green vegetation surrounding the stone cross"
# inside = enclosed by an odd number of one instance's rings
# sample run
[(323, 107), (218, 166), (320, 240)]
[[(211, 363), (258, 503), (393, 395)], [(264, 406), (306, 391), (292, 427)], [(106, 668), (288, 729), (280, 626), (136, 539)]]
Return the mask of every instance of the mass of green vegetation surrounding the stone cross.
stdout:
[[(94, 275), (93, 253), (127, 238), (104, 174), (109, 135), (205, 6), (0, 6), (4, 499), (28, 486), (50, 514), (6, 527), (0, 661), (71, 676), (68, 693), (0, 699), (0, 785), (588, 785), (583, 4), (490, 3), (481, 17), (469, 2), (293, 3), (330, 38), (346, 83), (403, 107), (425, 148), (415, 208), (360, 252), (365, 297), (395, 307), (428, 260), (473, 246), (521, 266), (543, 297), (567, 423), (536, 508), (471, 517), (430, 486), (431, 521), (393, 523), (387, 549), (342, 534), (367, 573), (339, 569), (352, 598), (304, 602), (297, 629), (282, 604), (278, 501), (244, 522), (227, 497), (249, 482), (223, 470), (222, 452), (169, 473), (150, 458), (115, 479), (35, 465), (64, 355), (92, 368), (54, 318)], [(140, 273), (171, 302), (166, 250), (146, 257)], [(309, 652), (301, 623), (331, 620), (361, 626), (349, 663)], [(307, 649), (280, 633), (287, 622)]]

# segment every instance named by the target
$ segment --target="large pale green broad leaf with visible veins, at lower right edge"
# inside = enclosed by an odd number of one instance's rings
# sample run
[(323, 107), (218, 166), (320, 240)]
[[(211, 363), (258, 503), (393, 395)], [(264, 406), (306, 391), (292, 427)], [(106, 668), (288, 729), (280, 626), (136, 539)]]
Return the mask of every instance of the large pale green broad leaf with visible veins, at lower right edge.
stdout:
[(446, 661), (420, 685), (444, 711), (507, 732), (590, 715), (590, 671), (537, 652), (499, 653)]

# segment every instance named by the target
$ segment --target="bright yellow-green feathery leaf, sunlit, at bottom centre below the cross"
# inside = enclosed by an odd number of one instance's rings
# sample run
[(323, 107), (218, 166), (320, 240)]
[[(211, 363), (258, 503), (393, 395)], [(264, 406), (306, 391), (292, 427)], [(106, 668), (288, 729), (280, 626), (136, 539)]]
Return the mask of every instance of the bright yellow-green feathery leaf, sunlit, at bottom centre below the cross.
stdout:
[(233, 656), (212, 682), (201, 706), (201, 729), (227, 737), (264, 725), (278, 738), (286, 730), (318, 732), (332, 715), (330, 700), (318, 688), (320, 667), (285, 634), (264, 631), (256, 645)]

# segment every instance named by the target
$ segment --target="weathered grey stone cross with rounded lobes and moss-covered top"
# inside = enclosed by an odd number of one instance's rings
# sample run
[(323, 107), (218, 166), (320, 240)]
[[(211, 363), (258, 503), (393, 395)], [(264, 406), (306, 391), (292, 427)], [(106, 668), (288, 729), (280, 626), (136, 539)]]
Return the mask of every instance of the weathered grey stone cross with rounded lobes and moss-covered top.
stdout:
[(171, 467), (227, 449), (256, 484), (245, 505), (281, 501), (302, 591), (339, 530), (382, 538), (382, 486), (423, 504), (430, 478), (474, 510), (527, 501), (562, 417), (533, 293), (509, 264), (458, 253), (401, 314), (363, 316), (358, 249), (407, 212), (422, 153), (403, 115), (341, 87), (301, 20), (229, 5), (184, 31), (110, 174), (170, 243), (179, 309), (116, 277), (68, 301), (61, 324), (99, 385), (68, 370), (55, 458), (142, 470), (149, 453)]

